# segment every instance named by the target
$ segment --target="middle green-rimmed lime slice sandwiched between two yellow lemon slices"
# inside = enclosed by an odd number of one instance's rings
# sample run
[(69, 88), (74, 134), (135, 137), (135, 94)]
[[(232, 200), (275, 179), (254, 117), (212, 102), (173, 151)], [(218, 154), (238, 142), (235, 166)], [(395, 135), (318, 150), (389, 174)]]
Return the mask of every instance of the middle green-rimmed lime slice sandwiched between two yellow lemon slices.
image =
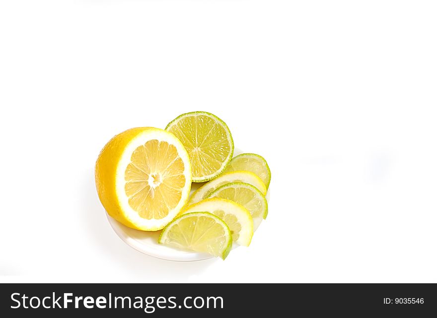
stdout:
[[(247, 183), (233, 182), (225, 184), (211, 192), (208, 197), (220, 197), (244, 206), (252, 215), (254, 231), (261, 224), (263, 218), (267, 217), (266, 197), (254, 186)], [(226, 222), (226, 220), (224, 221)]]

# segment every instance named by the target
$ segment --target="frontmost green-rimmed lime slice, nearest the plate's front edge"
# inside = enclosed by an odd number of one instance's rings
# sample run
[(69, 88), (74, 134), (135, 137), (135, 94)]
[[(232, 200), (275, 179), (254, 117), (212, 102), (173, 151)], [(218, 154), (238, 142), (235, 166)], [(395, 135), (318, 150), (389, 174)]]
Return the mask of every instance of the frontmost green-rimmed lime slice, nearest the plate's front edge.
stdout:
[(159, 244), (220, 256), (225, 259), (232, 247), (232, 235), (222, 219), (208, 212), (187, 213), (163, 230)]

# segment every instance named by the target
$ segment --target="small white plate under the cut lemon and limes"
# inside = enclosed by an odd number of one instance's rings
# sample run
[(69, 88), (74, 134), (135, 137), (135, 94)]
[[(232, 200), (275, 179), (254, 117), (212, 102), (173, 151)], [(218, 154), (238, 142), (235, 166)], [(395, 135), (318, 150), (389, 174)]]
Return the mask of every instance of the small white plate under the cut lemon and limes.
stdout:
[[(239, 149), (234, 150), (234, 156), (243, 153), (239, 151)], [(193, 183), (191, 187), (191, 193), (201, 187), (203, 184)], [(269, 200), (270, 189), (267, 191), (267, 201)], [(210, 254), (203, 253), (193, 253), (193, 252), (185, 252), (180, 250), (175, 250), (172, 248), (168, 248), (164, 245), (158, 244), (158, 238), (161, 234), (161, 231), (156, 232), (146, 232), (131, 229), (117, 220), (113, 219), (109, 214), (106, 213), (108, 217), (109, 224), (111, 224), (112, 229), (115, 233), (123, 240), (127, 245), (134, 248), (135, 250), (144, 253), (149, 256), (153, 256), (156, 258), (167, 259), (167, 260), (175, 260), (175, 261), (195, 261), (195, 260), (203, 260), (212, 258)], [(237, 247), (234, 245), (234, 247)]]

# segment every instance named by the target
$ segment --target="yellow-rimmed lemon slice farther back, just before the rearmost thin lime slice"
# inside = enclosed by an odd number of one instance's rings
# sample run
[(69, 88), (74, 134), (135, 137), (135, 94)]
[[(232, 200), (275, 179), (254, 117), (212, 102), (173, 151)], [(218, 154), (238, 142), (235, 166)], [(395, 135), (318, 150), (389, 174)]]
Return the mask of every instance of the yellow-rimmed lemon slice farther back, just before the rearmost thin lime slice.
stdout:
[(234, 172), (224, 173), (219, 177), (217, 177), (216, 179), (211, 180), (210, 182), (206, 183), (205, 185), (194, 191), (190, 197), (190, 200), (188, 201), (188, 204), (193, 204), (203, 199), (206, 199), (208, 195), (212, 191), (216, 190), (218, 187), (232, 182), (248, 183), (249, 185), (252, 185), (255, 188), (257, 188), (259, 191), (261, 191), (263, 195), (266, 195), (267, 192), (266, 186), (257, 175), (248, 171), (234, 171)]

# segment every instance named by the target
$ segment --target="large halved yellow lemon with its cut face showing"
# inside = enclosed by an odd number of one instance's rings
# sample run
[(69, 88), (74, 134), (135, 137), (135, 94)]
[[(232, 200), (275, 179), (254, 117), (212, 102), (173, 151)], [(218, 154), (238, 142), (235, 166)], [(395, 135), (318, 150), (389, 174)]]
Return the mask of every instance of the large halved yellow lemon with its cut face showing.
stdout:
[(173, 134), (132, 128), (116, 135), (100, 152), (95, 180), (110, 216), (134, 229), (157, 231), (187, 202), (190, 158)]

